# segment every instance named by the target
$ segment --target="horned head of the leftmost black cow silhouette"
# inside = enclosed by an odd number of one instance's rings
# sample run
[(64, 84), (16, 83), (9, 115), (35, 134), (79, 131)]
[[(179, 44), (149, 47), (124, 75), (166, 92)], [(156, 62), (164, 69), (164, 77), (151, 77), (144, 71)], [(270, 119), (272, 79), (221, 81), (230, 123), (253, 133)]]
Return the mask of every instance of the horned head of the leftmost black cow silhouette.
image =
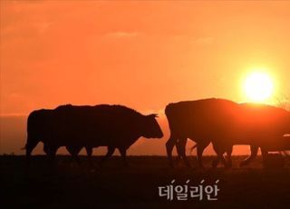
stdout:
[(162, 138), (163, 133), (161, 131), (160, 125), (156, 120), (157, 114), (149, 114), (144, 118), (144, 123), (142, 124), (143, 134), (142, 136), (146, 138)]

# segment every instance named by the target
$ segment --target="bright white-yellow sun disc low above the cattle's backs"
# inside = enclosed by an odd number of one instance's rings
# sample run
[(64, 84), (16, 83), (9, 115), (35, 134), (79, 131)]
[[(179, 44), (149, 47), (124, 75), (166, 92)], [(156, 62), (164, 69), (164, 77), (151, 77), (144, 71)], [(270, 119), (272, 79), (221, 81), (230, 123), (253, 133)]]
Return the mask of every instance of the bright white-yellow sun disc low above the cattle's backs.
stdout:
[(244, 90), (251, 102), (265, 102), (273, 95), (273, 80), (264, 72), (255, 72), (247, 76)]

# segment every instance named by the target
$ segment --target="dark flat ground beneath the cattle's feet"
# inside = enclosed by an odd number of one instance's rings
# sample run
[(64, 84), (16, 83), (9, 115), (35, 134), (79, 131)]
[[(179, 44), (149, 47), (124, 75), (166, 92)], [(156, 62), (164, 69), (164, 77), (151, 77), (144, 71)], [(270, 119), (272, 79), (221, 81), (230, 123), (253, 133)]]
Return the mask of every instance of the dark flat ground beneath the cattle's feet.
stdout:
[[(43, 155), (33, 157), (29, 170), (24, 156), (1, 155), (1, 208), (290, 208), (290, 162), (285, 168), (264, 169), (261, 158), (247, 167), (238, 164), (245, 156), (234, 156), (232, 169), (211, 169), (213, 157), (205, 157), (207, 168), (175, 169), (166, 157), (131, 156), (129, 168), (121, 166), (118, 156), (102, 169), (92, 171), (82, 164), (69, 164), (68, 156), (58, 156), (51, 169)], [(196, 160), (191, 158), (191, 164)], [(100, 157), (94, 157), (98, 164)], [(167, 201), (158, 195), (158, 186), (173, 179), (177, 184), (198, 185), (204, 179), (212, 184), (219, 179), (218, 201)]]

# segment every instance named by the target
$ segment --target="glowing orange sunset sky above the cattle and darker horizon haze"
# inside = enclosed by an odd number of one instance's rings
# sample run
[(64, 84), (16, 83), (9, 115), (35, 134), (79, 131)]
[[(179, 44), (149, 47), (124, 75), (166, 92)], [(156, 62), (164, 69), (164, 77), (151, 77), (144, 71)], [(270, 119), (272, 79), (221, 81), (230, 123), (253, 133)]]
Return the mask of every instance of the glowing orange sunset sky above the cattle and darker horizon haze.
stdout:
[(2, 116), (59, 104), (162, 114), (181, 100), (245, 102), (256, 69), (275, 81), (273, 101), (289, 92), (289, 1), (0, 3)]

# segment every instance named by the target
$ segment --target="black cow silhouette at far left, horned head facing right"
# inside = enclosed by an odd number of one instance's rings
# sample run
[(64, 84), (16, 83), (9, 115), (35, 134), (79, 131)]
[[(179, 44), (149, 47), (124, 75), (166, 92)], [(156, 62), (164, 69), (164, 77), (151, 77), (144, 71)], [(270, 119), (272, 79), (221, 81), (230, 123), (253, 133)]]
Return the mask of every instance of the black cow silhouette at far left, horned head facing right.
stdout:
[[(32, 150), (40, 139), (45, 144), (46, 152), (54, 157), (60, 146), (68, 147), (77, 155), (82, 147), (107, 146), (108, 153), (103, 160), (110, 157), (117, 148), (127, 165), (127, 149), (140, 136), (145, 138), (161, 138), (163, 133), (156, 117), (157, 114), (143, 115), (123, 106), (98, 104), (94, 106), (71, 104), (61, 105), (53, 110), (41, 110), (35, 119), (35, 112), (29, 115), (27, 122), (26, 156), (29, 158)], [(32, 130), (30, 124), (36, 130)]]

